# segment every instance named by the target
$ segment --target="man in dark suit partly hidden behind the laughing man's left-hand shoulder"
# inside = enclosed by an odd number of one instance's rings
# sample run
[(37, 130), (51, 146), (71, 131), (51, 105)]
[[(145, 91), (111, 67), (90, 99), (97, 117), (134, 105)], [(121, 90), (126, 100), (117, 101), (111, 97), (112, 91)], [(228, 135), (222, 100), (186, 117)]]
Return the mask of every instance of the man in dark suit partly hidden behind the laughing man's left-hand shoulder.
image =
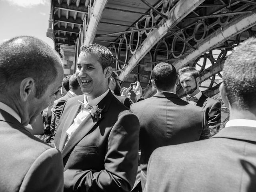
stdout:
[[(62, 81), (62, 84), (63, 84), (63, 81)], [(69, 90), (66, 93), (66, 95), (54, 101), (54, 106), (52, 109), (52, 119), (51, 119), (51, 125), (50, 125), (50, 130), (53, 136), (55, 135), (56, 128), (59, 124), (62, 108), (66, 100), (68, 100), (71, 97), (75, 97), (82, 94), (83, 93), (77, 81), (76, 74), (73, 74), (69, 78)]]

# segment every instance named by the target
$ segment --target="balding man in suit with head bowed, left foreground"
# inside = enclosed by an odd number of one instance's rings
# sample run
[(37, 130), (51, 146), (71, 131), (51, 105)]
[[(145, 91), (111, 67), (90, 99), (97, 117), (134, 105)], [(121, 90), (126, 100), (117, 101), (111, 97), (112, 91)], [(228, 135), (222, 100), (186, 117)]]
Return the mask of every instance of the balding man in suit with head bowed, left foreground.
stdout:
[(63, 191), (61, 153), (24, 128), (54, 99), (62, 78), (60, 56), (42, 40), (20, 36), (0, 45), (1, 192)]

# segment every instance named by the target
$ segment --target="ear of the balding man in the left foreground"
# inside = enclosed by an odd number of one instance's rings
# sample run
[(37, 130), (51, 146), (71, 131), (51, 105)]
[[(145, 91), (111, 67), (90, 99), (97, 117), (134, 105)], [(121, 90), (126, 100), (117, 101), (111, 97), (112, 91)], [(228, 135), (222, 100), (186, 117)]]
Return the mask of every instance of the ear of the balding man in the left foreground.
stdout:
[(20, 82), (20, 98), (23, 102), (28, 100), (28, 97), (35, 92), (36, 86), (33, 78), (27, 77)]

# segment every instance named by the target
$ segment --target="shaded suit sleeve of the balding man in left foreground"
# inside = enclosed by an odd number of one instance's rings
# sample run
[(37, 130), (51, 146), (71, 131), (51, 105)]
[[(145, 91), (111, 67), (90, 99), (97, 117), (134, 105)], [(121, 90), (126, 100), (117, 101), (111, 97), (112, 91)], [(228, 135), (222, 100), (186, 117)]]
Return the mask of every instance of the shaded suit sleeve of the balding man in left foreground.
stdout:
[(60, 151), (50, 148), (36, 158), (20, 186), (20, 192), (25, 191), (63, 191), (63, 162)]

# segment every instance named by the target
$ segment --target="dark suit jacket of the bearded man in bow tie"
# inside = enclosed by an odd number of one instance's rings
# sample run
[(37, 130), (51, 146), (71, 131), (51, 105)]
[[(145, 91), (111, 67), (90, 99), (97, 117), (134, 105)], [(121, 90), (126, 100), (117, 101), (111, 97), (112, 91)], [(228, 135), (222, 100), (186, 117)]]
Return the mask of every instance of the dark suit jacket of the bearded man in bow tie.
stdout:
[(215, 134), (221, 123), (221, 104), (220, 102), (206, 97), (204, 94), (198, 99), (197, 106), (204, 108), (205, 118), (208, 122), (211, 134)]

